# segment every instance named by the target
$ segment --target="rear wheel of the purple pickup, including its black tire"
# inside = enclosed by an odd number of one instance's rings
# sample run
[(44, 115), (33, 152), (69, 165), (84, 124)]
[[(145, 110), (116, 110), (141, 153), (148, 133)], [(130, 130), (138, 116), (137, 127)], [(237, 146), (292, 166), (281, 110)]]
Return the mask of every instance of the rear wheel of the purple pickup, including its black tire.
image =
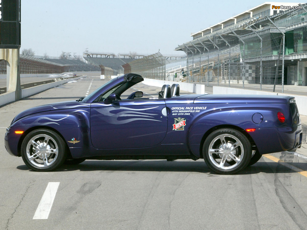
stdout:
[[(226, 143), (226, 139), (221, 140), (219, 136), (226, 136), (227, 143)], [(223, 145), (224, 143), (226, 146), (225, 149), (223, 149), (222, 151), (218, 143), (219, 140), (221, 142), (221, 145)], [(239, 141), (240, 143), (235, 145), (237, 141)], [(212, 143), (215, 147), (212, 147), (213, 146)], [(233, 146), (233, 145), (235, 146), (234, 148), (235, 150), (230, 150), (230, 146)], [(214, 150), (216, 149), (217, 153), (215, 153), (216, 151), (212, 150), (211, 151), (212, 153), (209, 154), (209, 149), (212, 149), (212, 148)], [(226, 151), (226, 153), (229, 153), (229, 154), (225, 154), (223, 151)], [(227, 161), (231, 162), (231, 160), (227, 160), (227, 158), (231, 158), (230, 156), (231, 152), (236, 152), (235, 156), (237, 157), (237, 159), (239, 159), (238, 162), (236, 162), (236, 164), (227, 163)], [(244, 136), (243, 133), (233, 128), (221, 128), (221, 129), (217, 129), (213, 131), (206, 138), (204, 145), (203, 145), (204, 161), (206, 162), (206, 164), (212, 171), (215, 171), (218, 174), (234, 174), (234, 173), (237, 173), (243, 170), (244, 168), (247, 167), (248, 163), (251, 160), (251, 153), (252, 153), (251, 143), (249, 142), (247, 137)], [(216, 159), (221, 159), (219, 154), (226, 156), (226, 159), (225, 159), (226, 165), (223, 164), (223, 166), (221, 166), (219, 165), (219, 162), (216, 161)], [(211, 155), (211, 158), (210, 158), (210, 155)], [(232, 155), (234, 154), (232, 153)]]

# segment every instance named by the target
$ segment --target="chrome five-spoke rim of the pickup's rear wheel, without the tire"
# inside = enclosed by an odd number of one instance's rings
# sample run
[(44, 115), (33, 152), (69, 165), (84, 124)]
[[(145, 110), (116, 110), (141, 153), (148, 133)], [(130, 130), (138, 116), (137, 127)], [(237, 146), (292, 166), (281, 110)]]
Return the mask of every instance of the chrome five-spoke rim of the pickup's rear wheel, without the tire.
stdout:
[(225, 133), (216, 136), (211, 141), (208, 153), (213, 165), (222, 170), (230, 170), (241, 163), (244, 148), (236, 136)]

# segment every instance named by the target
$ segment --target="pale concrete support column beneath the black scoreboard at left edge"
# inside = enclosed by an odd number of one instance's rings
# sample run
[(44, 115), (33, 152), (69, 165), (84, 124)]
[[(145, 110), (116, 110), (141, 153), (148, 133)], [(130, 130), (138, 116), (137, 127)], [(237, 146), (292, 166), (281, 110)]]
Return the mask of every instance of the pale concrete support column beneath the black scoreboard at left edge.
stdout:
[(19, 49), (0, 49), (0, 59), (6, 60), (6, 92), (15, 92), (15, 100), (21, 99)]

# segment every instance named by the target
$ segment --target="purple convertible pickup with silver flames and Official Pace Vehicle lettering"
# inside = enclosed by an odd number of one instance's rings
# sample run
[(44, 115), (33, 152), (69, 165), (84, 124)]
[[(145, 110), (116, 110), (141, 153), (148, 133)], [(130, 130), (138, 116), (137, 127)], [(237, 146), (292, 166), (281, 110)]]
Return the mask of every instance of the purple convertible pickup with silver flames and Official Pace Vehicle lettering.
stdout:
[[(86, 159), (203, 158), (212, 171), (233, 174), (262, 154), (301, 147), (295, 99), (260, 95), (180, 95), (164, 85), (159, 97), (121, 96), (143, 78), (126, 74), (77, 101), (19, 113), (5, 146), (35, 171)], [(122, 96), (123, 97), (123, 96)]]

